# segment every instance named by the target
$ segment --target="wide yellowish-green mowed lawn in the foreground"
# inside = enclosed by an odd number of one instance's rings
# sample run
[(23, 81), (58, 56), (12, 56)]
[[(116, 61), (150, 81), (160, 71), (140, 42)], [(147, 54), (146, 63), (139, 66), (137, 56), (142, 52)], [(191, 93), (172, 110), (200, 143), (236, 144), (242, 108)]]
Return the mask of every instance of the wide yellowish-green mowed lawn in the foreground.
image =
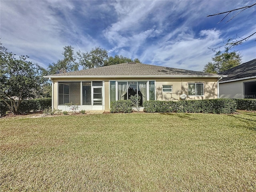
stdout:
[(256, 191), (256, 114), (0, 119), (0, 191)]

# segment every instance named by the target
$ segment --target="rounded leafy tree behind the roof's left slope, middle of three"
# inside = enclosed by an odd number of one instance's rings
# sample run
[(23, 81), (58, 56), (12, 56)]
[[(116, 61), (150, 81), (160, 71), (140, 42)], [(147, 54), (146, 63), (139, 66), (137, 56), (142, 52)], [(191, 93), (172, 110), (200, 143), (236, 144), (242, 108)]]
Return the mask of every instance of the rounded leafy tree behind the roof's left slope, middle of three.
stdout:
[(104, 66), (108, 60), (107, 50), (95, 47), (90, 52), (83, 53), (80, 50), (77, 52), (78, 63), (82, 69), (90, 69)]

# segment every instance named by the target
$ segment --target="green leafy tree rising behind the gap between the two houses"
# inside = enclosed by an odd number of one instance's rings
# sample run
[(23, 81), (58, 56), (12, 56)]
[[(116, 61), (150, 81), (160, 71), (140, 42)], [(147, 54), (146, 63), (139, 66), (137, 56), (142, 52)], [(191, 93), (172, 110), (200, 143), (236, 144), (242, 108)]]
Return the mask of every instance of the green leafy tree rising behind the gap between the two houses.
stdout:
[(228, 51), (225, 51), (223, 53), (219, 51), (212, 58), (212, 61), (213, 62), (208, 62), (208, 64), (204, 66), (203, 71), (207, 73), (218, 74), (220, 72), (240, 65), (242, 63), (242, 57), (239, 53), (235, 51), (230, 53)]

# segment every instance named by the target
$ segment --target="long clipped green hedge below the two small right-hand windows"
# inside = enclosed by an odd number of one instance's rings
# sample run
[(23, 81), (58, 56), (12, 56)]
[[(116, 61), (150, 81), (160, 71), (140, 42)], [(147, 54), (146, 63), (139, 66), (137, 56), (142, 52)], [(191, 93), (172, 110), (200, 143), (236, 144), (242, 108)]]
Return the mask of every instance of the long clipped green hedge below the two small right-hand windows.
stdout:
[(146, 101), (144, 112), (214, 113), (230, 114), (236, 111), (232, 99), (185, 100), (185, 101)]

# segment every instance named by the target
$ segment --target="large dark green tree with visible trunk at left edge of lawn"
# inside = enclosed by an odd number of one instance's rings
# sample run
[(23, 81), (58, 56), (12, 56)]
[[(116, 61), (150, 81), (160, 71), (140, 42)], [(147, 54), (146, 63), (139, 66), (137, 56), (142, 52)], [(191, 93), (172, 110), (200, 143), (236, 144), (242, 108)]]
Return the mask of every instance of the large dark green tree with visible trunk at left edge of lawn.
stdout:
[(13, 114), (19, 113), (22, 100), (34, 98), (40, 90), (39, 76), (28, 56), (15, 58), (15, 54), (0, 43), (0, 99)]

